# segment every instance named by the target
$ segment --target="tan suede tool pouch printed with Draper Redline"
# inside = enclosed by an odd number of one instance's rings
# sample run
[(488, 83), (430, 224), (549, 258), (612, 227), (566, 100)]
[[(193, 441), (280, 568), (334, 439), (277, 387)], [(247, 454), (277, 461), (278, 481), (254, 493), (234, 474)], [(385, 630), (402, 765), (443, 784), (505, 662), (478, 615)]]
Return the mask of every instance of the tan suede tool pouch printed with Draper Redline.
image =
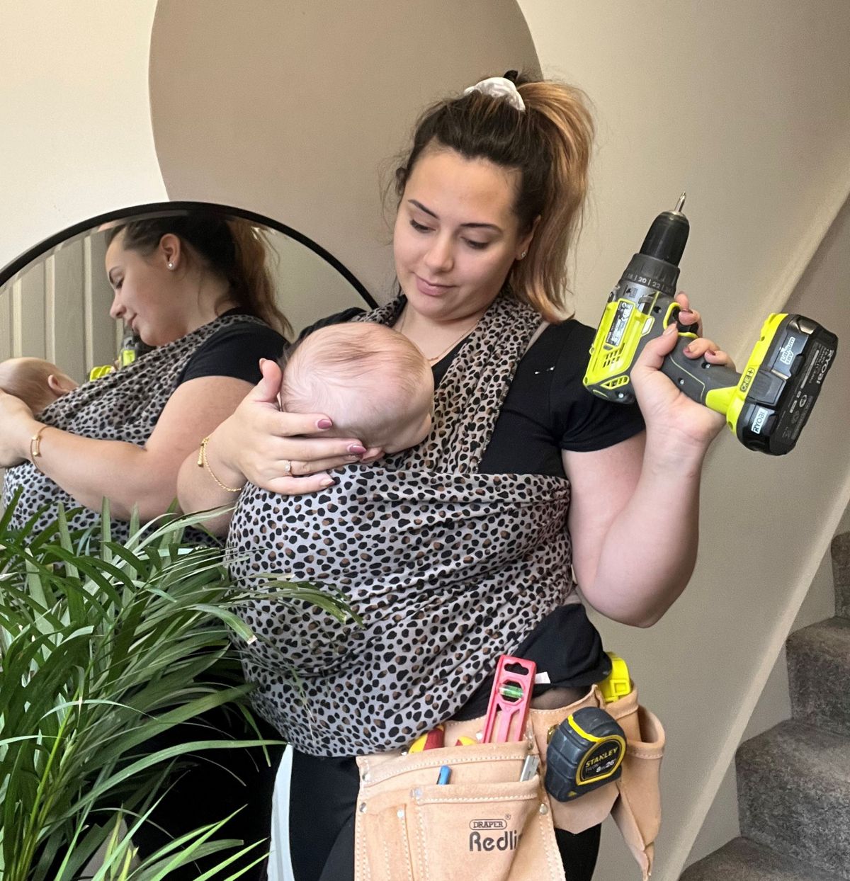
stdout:
[(520, 781), (536, 754), (523, 740), (359, 757), (355, 881), (563, 881), (542, 779)]

